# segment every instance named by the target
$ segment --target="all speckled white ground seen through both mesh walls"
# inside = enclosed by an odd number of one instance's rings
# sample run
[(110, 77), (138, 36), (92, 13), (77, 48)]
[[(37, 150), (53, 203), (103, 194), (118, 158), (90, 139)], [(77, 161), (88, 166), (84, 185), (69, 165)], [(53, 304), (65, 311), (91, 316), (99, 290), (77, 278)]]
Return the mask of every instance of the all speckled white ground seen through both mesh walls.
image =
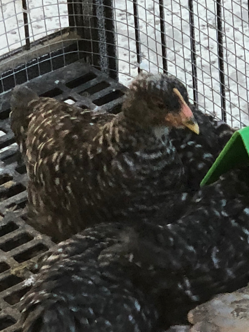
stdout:
[[(68, 26), (65, 0), (29, 0), (31, 41)], [(120, 82), (128, 85), (137, 74), (133, 1), (113, 0), (115, 8)], [(140, 67), (162, 71), (159, 0), (137, 0), (142, 63)], [(203, 111), (221, 118), (216, 37), (216, 1), (194, 0), (197, 53), (198, 103)], [(223, 44), (227, 122), (249, 125), (248, 1), (223, 0)], [(192, 92), (189, 10), (186, 0), (164, 1), (168, 72)], [(0, 54), (25, 43), (21, 0), (1, 0)]]

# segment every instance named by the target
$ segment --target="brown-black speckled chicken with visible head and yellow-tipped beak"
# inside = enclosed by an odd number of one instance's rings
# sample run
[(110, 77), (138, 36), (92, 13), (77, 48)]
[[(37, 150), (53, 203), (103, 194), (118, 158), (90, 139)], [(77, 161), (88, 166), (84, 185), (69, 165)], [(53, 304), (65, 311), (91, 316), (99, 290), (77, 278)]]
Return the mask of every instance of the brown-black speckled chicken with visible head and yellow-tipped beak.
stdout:
[[(55, 241), (90, 220), (149, 216), (187, 178), (171, 128), (199, 133), (187, 90), (165, 74), (138, 76), (122, 112), (85, 112), (16, 87), (11, 128), (29, 175), (33, 226)], [(79, 222), (80, 221), (80, 222)]]

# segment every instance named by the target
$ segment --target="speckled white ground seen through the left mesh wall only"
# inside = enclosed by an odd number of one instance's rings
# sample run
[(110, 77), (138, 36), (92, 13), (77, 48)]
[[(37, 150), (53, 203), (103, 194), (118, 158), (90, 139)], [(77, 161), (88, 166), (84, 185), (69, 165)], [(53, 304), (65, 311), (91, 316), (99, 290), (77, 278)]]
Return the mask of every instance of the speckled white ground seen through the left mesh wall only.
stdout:
[[(22, 0), (0, 0), (0, 55), (25, 45)], [(65, 0), (27, 0), (30, 41), (68, 27)]]

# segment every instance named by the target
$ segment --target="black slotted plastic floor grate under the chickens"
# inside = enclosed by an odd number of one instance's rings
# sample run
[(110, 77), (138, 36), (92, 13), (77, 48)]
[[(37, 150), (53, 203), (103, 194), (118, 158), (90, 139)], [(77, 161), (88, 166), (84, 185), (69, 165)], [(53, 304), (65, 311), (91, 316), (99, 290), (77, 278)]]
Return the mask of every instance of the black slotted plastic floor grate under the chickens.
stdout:
[[(82, 108), (121, 110), (125, 87), (81, 60), (28, 82), (40, 96)], [(27, 174), (10, 129), (10, 95), (0, 95), (0, 331), (21, 332), (20, 300), (54, 243), (26, 223)]]

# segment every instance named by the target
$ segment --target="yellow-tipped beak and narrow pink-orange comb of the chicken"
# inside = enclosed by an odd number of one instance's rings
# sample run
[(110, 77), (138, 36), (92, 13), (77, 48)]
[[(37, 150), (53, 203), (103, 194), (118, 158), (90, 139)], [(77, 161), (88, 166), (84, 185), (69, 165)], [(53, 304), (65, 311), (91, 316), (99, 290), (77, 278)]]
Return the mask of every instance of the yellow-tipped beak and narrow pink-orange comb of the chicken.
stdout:
[(199, 125), (197, 124), (190, 107), (187, 105), (182, 95), (176, 88), (174, 88), (173, 91), (179, 98), (181, 104), (181, 109), (179, 114), (181, 118), (181, 124), (189, 128), (190, 130), (194, 131), (194, 133), (196, 133), (197, 135), (199, 135), (200, 133)]

